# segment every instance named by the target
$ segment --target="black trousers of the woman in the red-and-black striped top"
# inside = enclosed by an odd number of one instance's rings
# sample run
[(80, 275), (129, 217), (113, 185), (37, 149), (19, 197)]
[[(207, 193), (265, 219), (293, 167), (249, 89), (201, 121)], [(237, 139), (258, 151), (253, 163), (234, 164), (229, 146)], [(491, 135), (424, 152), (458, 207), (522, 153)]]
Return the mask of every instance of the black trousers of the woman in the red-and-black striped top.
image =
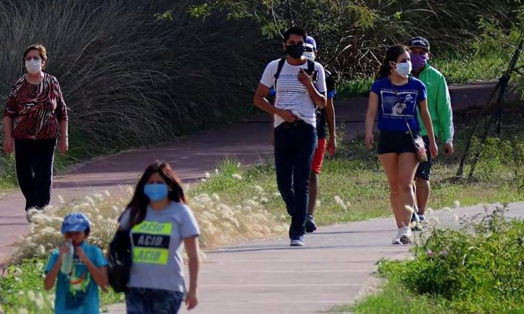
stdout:
[(18, 184), (25, 210), (43, 209), (51, 201), (54, 147), (57, 139), (15, 140)]

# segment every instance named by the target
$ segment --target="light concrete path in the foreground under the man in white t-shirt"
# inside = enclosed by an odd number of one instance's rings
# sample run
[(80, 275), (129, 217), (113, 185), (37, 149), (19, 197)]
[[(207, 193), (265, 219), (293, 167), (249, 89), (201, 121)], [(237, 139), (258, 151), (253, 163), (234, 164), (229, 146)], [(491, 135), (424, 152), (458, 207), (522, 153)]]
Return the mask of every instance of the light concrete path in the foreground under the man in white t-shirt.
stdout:
[[(490, 206), (490, 209), (495, 206)], [(482, 206), (438, 211), (444, 225), (456, 216), (483, 213)], [(509, 217), (524, 218), (524, 202), (510, 205)], [(326, 313), (350, 304), (367, 289), (382, 258), (409, 256), (409, 246), (393, 246), (393, 218), (320, 227), (306, 236), (304, 248), (289, 247), (288, 239), (252, 241), (207, 252), (201, 269), (200, 305), (194, 314)], [(125, 313), (124, 304), (109, 307)]]

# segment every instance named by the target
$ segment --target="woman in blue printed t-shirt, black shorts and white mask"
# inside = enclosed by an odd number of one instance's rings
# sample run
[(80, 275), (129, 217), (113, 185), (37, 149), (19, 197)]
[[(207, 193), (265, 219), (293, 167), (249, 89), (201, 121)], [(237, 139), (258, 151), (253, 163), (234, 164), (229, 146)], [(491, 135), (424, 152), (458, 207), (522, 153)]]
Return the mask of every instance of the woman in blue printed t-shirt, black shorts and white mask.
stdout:
[(413, 179), (418, 165), (412, 135), (419, 137), (418, 114), (428, 130), (431, 156), (436, 157), (438, 153), (425, 86), (420, 80), (409, 77), (411, 71), (409, 48), (390, 47), (372, 84), (365, 117), (365, 144), (372, 149), (374, 119), (377, 110), (379, 112), (379, 160), (388, 177), (391, 207), (398, 227), (393, 244), (411, 241), (409, 222), (415, 204)]

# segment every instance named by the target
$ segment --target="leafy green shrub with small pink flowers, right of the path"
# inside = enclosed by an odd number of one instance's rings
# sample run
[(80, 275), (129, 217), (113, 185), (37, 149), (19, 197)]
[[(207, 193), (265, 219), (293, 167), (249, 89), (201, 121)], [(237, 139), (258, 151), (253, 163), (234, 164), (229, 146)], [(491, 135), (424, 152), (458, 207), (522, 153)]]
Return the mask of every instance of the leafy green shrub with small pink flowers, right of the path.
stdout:
[(509, 313), (524, 306), (524, 221), (498, 208), (458, 230), (434, 229), (414, 259), (379, 271), (415, 294), (444, 298), (459, 313)]

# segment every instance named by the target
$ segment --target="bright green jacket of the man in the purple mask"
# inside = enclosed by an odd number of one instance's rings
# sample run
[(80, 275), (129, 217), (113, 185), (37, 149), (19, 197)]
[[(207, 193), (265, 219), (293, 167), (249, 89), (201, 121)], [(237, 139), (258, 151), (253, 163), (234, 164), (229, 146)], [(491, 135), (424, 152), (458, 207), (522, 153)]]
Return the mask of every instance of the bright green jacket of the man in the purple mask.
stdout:
[[(430, 111), (435, 137), (440, 137), (444, 143), (453, 142), (453, 111), (451, 110), (451, 98), (444, 75), (433, 68), (430, 63), (427, 63), (419, 74), (419, 80), (425, 84), (425, 88), (428, 90), (428, 110)], [(425, 129), (420, 114), (419, 122), (421, 135), (428, 135), (428, 130)]]

